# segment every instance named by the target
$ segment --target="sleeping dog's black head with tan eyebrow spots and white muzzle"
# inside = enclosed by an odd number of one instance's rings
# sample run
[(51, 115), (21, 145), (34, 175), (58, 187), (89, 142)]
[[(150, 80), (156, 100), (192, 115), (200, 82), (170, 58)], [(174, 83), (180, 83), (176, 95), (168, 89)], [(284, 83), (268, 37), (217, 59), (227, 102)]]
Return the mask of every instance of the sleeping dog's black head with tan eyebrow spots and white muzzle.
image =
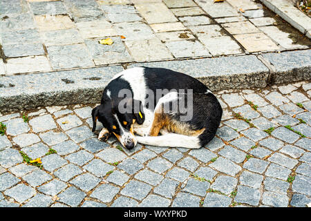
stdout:
[(106, 100), (100, 106), (93, 108), (93, 128), (95, 131), (97, 119), (109, 133), (113, 133), (125, 148), (131, 149), (137, 144), (133, 124), (144, 123), (142, 102), (133, 98), (117, 98)]

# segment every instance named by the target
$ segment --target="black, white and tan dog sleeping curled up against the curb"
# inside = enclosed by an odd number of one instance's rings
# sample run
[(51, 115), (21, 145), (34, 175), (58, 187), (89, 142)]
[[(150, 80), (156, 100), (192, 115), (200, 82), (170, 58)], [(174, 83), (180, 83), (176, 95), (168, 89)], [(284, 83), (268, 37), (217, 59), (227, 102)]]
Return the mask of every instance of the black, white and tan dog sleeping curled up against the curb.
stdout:
[(104, 88), (100, 106), (92, 111), (92, 131), (98, 119), (104, 126), (98, 139), (113, 133), (128, 149), (138, 142), (200, 148), (215, 136), (222, 114), (218, 99), (198, 79), (136, 67), (115, 75)]

